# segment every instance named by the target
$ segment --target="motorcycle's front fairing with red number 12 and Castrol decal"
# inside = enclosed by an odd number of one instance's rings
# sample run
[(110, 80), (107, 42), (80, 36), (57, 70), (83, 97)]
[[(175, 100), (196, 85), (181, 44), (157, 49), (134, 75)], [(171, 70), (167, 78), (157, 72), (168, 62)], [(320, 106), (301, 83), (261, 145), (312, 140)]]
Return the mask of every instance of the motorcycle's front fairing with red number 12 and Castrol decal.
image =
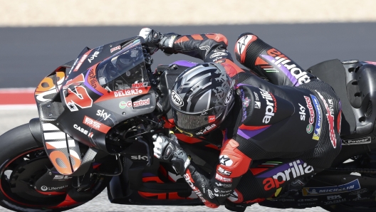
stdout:
[(70, 70), (59, 67), (36, 88), (43, 144), (59, 173), (80, 176), (98, 151), (119, 153), (106, 133), (155, 110), (141, 43), (135, 37), (83, 51)]

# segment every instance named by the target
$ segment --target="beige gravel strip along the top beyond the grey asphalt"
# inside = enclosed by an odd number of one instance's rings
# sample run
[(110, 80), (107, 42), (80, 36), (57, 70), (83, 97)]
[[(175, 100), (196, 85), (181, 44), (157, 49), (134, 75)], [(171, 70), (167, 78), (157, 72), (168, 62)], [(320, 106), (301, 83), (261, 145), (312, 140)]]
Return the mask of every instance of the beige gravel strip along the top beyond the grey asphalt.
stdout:
[(375, 0), (0, 0), (0, 26), (376, 21)]

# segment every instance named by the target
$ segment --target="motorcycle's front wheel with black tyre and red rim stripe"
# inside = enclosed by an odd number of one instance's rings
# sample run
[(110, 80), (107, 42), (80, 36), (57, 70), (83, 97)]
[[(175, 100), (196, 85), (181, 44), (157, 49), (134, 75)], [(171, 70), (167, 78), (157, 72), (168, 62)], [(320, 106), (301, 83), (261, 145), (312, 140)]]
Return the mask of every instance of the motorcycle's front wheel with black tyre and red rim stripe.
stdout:
[[(85, 191), (41, 193), (33, 184), (53, 168), (43, 149), (23, 124), (0, 136), (0, 206), (12, 211), (66, 211), (90, 201), (108, 185), (110, 177), (98, 176)], [(71, 195), (72, 191), (75, 194)], [(72, 198), (73, 197), (73, 198)], [(83, 198), (82, 198), (83, 197)], [(83, 201), (78, 201), (83, 200)]]

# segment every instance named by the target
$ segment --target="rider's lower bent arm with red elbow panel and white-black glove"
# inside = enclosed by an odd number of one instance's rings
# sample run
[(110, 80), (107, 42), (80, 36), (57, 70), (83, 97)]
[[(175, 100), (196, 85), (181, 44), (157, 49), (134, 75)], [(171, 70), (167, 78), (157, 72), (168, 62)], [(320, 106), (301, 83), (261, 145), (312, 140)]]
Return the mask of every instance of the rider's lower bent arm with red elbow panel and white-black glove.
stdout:
[(194, 193), (208, 207), (216, 208), (228, 198), (239, 184), (241, 176), (248, 171), (251, 159), (238, 149), (234, 139), (224, 142), (219, 163), (211, 174), (199, 169), (180, 147), (177, 137), (160, 134), (153, 136), (154, 155), (161, 161), (169, 161), (178, 174), (184, 176)]

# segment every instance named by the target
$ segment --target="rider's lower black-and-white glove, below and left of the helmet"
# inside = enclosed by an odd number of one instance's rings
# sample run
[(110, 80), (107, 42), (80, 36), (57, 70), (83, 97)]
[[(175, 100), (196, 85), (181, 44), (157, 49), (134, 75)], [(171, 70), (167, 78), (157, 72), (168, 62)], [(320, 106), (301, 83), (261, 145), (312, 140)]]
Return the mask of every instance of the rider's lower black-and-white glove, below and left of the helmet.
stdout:
[(174, 134), (169, 134), (169, 137), (163, 134), (153, 135), (154, 143), (154, 156), (162, 161), (172, 163), (175, 171), (182, 175), (191, 164), (191, 158), (180, 147), (177, 137)]

